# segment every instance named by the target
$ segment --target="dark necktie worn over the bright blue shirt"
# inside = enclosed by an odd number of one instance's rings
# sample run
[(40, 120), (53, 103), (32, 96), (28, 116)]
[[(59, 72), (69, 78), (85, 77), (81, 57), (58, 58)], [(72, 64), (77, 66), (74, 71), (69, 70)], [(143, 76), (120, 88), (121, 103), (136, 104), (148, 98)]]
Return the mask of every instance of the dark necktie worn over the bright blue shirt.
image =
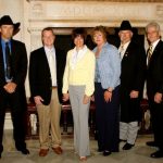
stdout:
[(5, 42), (5, 64), (7, 64), (7, 78), (11, 79), (12, 78), (11, 53), (10, 53), (9, 42)]

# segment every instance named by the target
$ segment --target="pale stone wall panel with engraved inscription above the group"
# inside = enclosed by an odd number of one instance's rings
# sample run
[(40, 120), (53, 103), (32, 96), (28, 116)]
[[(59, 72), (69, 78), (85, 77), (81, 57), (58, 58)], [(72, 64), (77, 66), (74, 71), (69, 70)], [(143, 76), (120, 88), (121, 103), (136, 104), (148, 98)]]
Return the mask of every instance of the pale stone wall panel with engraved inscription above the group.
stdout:
[[(146, 10), (145, 10), (146, 9)], [(32, 20), (151, 20), (162, 15), (163, 5), (151, 3), (115, 3), (82, 1), (32, 2)], [(147, 14), (148, 13), (148, 14)], [(158, 17), (160, 18), (160, 17)]]

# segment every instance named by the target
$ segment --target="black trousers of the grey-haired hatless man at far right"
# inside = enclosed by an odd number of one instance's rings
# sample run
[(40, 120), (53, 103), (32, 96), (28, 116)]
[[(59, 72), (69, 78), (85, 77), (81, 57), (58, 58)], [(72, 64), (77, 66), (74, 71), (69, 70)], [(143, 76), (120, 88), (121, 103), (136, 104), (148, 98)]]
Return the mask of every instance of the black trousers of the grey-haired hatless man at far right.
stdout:
[(163, 103), (155, 103), (153, 100), (149, 99), (149, 109), (151, 112), (154, 141), (163, 151)]

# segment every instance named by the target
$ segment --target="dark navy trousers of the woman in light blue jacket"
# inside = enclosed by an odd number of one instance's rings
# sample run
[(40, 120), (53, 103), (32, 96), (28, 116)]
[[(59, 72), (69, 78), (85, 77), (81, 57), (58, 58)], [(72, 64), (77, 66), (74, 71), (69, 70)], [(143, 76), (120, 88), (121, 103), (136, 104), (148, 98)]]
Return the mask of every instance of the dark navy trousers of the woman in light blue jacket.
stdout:
[(120, 138), (120, 86), (112, 92), (112, 101), (104, 101), (104, 90), (96, 83), (96, 123), (99, 150), (118, 151)]

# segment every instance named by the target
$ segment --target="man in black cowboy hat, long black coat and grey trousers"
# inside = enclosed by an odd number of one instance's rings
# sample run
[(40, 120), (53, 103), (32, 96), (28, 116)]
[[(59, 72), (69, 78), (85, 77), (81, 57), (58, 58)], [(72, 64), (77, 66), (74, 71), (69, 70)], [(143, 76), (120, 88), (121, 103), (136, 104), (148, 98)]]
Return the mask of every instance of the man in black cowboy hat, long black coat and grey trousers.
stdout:
[(122, 22), (118, 36), (118, 51), (122, 58), (120, 139), (126, 141), (123, 150), (129, 150), (135, 145), (139, 128), (146, 51), (131, 39), (133, 28), (128, 21)]

